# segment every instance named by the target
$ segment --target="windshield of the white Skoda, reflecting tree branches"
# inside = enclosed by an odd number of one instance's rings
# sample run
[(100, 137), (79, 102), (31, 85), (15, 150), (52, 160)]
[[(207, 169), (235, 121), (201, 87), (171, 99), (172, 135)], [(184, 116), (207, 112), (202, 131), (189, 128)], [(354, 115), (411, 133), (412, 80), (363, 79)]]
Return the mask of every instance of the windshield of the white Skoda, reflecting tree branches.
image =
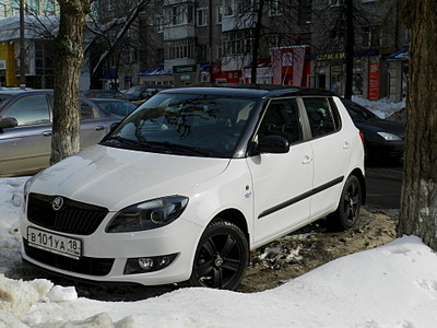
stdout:
[(103, 143), (152, 152), (232, 157), (257, 101), (216, 95), (158, 94)]

